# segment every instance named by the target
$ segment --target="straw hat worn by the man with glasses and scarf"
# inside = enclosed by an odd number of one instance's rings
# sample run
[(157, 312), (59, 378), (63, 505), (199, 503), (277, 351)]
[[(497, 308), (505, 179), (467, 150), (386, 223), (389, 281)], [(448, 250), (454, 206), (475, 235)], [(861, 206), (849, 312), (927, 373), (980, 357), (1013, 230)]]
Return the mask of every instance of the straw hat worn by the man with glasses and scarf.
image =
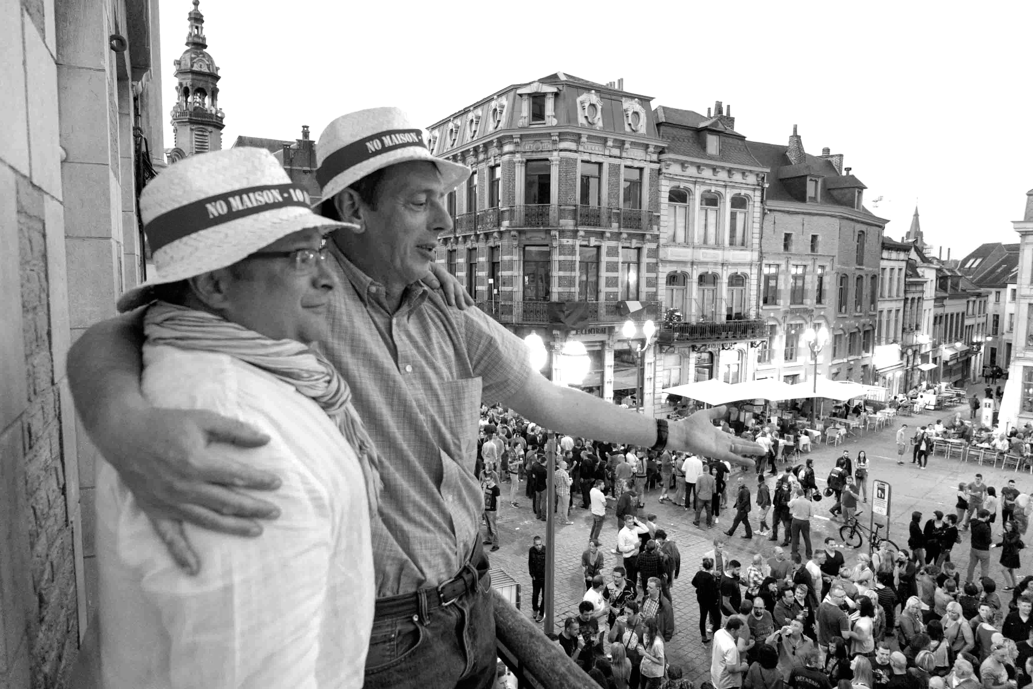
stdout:
[(201, 153), (166, 167), (139, 196), (155, 275), (119, 297), (119, 311), (153, 300), (155, 285), (232, 265), (293, 232), (353, 227), (312, 212), (265, 149)]

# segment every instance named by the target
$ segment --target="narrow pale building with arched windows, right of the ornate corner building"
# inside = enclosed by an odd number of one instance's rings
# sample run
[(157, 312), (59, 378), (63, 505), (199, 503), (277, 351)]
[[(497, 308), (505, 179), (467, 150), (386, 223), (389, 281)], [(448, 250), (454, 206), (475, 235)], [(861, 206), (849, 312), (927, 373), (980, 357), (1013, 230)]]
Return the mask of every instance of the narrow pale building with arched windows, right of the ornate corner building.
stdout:
[(752, 380), (760, 218), (768, 167), (734, 130), (730, 106), (713, 114), (656, 108), (660, 154), (660, 260), (665, 314), (660, 389), (720, 378)]

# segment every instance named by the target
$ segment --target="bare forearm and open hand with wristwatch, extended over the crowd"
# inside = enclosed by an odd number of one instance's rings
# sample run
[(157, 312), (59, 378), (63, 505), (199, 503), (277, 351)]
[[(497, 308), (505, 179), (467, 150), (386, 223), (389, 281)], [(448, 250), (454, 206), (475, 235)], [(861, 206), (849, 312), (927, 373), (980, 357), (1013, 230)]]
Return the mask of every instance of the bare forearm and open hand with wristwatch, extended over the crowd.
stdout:
[[(537, 373), (527, 376), (525, 383), (503, 402), (545, 428), (641, 447), (650, 447), (656, 442), (656, 419), (652, 416), (572, 387), (555, 385)], [(667, 447), (753, 466), (753, 460), (745, 456), (763, 455), (763, 448), (752, 440), (737, 438), (715, 427), (714, 419), (723, 417), (724, 411), (724, 407), (715, 407), (671, 421)]]

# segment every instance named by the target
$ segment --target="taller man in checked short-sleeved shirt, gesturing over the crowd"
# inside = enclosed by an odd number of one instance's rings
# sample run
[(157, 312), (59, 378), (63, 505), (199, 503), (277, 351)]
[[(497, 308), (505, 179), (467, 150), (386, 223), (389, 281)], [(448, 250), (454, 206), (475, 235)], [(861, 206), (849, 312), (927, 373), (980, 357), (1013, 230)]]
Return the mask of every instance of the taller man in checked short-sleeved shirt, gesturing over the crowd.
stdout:
[[(432, 156), (401, 111), (338, 118), (321, 134), (317, 154), (323, 215), (355, 226), (330, 244), (327, 262), (342, 288), (327, 305), (324, 351), (351, 385), (374, 444), (389, 458), (380, 464), (380, 516), (398, 545), (383, 552), (374, 545), (378, 600), (366, 681), (410, 686), (419, 677), (425, 686), (481, 686), (495, 667), (488, 558), (478, 537), (481, 495), (473, 476), (481, 400), (550, 428), (658, 451), (670, 446), (745, 463), (742, 456), (759, 447), (713, 426), (723, 407), (668, 428), (665, 419), (553, 385), (531, 369), (512, 333), (480, 310), (449, 308), (422, 286), (438, 236), (452, 226), (446, 195), (470, 171)], [(142, 403), (132, 328), (126, 321), (101, 325), (72, 352), (72, 385), (91, 437), (153, 516), (244, 533), (260, 528), (254, 519), (272, 518), (268, 503), (226, 487), (274, 488), (275, 476), (213, 460), (207, 445), (213, 428), (217, 440), (261, 439), (222, 419), (160, 415)], [(146, 433), (143, 419), (153, 421)], [(195, 565), (179, 527), (165, 521), (160, 528), (170, 550)]]

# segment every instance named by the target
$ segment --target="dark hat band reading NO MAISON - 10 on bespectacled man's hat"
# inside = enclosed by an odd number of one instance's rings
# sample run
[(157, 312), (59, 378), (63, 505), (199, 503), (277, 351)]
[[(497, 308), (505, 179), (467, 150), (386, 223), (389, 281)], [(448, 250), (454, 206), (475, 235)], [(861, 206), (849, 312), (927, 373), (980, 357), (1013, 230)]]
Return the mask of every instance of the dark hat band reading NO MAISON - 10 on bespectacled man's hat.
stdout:
[(144, 226), (151, 251), (216, 225), (280, 208), (309, 208), (307, 191), (292, 184), (233, 189), (180, 206)]

